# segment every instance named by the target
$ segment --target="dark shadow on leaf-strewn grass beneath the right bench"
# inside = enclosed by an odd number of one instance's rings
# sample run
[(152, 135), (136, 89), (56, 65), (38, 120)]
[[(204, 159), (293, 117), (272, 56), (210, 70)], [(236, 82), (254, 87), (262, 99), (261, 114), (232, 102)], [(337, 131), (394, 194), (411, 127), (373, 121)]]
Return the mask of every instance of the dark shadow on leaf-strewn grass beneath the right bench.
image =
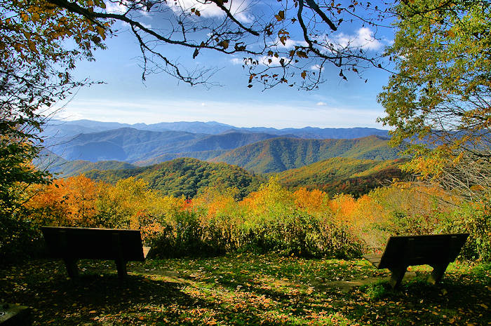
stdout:
[(432, 285), (422, 275), (396, 289), (380, 280), (359, 287), (351, 298), (358, 301), (352, 318), (367, 324), (491, 325), (485, 304), (491, 302), (490, 287), (475, 280), (445, 278)]

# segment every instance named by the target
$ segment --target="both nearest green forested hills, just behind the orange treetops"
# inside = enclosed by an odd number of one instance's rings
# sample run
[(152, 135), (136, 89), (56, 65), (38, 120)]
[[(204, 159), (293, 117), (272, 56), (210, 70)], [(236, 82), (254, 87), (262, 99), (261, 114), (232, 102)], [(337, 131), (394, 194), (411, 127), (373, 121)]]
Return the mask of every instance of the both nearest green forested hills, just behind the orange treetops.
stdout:
[[(194, 158), (177, 158), (173, 161), (157, 165), (136, 168), (116, 167), (115, 170), (102, 170), (105, 164), (91, 163), (100, 166), (99, 170), (90, 170), (85, 173), (90, 179), (115, 184), (121, 179), (135, 177), (143, 179), (152, 189), (162, 194), (192, 198), (207, 186), (220, 189), (236, 187), (238, 198), (257, 189), (260, 182), (267, 177), (254, 175), (227, 163), (208, 163)], [(306, 187), (307, 189), (321, 189), (330, 195), (336, 193), (349, 193), (361, 196), (375, 189), (377, 186), (387, 184), (392, 179), (405, 179), (408, 177), (399, 169), (403, 160), (358, 160), (355, 158), (329, 158), (302, 168), (285, 170), (278, 173), (278, 182), (289, 189)], [(114, 163), (113, 163), (114, 164)], [(275, 173), (269, 176), (276, 175)]]

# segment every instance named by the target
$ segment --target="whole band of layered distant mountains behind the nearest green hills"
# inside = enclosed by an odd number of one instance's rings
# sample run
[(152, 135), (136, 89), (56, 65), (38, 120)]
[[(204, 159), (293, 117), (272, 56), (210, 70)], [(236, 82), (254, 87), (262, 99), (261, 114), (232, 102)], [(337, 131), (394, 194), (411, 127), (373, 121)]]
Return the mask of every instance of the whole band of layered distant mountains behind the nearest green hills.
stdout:
[[(376, 138), (365, 141), (373, 140), (372, 147), (361, 149), (358, 143), (363, 141), (353, 137), (365, 134)], [(51, 121), (43, 135), (46, 149), (66, 161), (123, 161), (144, 166), (193, 157), (261, 173), (298, 168), (335, 156), (391, 159), (396, 158), (397, 151), (387, 146), (386, 130), (370, 128), (278, 130), (235, 128), (216, 122), (138, 123), (130, 128), (123, 123), (80, 120)], [(325, 135), (331, 139), (321, 140)], [(75, 171), (64, 163), (67, 168), (61, 170), (65, 175)]]

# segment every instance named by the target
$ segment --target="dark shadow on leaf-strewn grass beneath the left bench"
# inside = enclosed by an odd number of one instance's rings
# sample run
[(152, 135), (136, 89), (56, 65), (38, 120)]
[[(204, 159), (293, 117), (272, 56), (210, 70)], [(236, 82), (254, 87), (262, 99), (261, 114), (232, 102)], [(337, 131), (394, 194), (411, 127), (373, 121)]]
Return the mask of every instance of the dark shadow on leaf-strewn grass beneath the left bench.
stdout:
[(190, 295), (187, 290), (196, 289), (187, 283), (133, 273), (120, 280), (105, 269), (111, 262), (79, 265), (87, 269), (75, 279), (56, 261), (0, 270), (0, 301), (32, 308), (34, 325), (277, 325), (262, 321), (255, 309)]

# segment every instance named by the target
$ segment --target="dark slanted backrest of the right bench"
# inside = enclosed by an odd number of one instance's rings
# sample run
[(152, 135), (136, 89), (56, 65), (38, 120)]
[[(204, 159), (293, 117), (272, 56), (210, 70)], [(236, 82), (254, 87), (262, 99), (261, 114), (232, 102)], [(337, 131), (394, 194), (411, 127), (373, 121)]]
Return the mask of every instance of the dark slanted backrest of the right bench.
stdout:
[(378, 268), (453, 262), (468, 236), (469, 233), (391, 236)]

